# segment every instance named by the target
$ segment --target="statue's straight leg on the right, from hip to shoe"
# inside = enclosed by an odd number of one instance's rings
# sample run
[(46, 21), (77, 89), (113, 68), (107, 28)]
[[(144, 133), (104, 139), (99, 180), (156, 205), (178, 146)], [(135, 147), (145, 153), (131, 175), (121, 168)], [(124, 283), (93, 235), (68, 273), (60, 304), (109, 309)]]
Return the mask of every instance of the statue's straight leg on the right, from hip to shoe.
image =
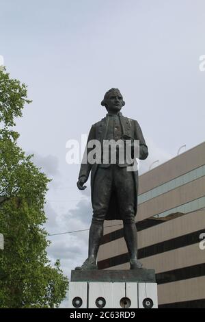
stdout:
[(135, 186), (133, 173), (126, 167), (115, 166), (115, 190), (124, 223), (124, 239), (128, 248), (131, 269), (141, 269), (142, 264), (137, 260), (137, 228), (135, 225)]

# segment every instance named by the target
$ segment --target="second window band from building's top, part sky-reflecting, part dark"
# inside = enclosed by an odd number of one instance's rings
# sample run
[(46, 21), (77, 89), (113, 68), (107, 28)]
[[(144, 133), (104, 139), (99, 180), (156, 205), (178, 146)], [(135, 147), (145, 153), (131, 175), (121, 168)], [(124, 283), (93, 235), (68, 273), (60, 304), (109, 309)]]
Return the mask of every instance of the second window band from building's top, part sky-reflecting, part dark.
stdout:
[[(176, 219), (180, 216), (190, 214), (191, 212), (202, 211), (204, 210), (204, 207), (205, 207), (205, 197), (195, 199), (188, 203), (184, 203), (181, 206), (172, 208), (170, 210), (166, 210), (161, 214), (156, 214), (154, 216), (151, 216), (150, 218), (144, 219), (143, 221), (137, 221), (136, 223), (137, 232), (141, 232), (141, 230), (146, 230), (150, 227), (160, 225), (161, 223), (165, 223), (172, 219)], [(123, 236), (124, 236), (123, 228), (121, 228), (120, 230), (115, 230), (114, 232), (110, 232), (102, 236), (100, 245), (122, 238)]]

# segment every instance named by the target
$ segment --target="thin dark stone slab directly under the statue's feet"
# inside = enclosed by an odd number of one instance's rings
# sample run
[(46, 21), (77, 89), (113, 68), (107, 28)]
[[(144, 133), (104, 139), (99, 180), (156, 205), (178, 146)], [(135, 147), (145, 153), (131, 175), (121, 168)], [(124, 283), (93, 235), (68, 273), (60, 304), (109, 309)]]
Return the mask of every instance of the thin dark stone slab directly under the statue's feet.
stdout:
[(154, 269), (71, 271), (70, 282), (146, 282), (155, 283)]

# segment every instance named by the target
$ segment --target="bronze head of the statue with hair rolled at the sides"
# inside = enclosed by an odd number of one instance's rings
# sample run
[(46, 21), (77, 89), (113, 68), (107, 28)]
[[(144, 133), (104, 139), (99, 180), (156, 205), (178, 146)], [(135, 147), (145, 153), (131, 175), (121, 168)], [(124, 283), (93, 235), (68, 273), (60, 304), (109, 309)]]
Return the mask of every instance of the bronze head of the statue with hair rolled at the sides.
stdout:
[(105, 106), (108, 112), (118, 112), (124, 106), (122, 94), (118, 88), (111, 88), (105, 93), (101, 105)]

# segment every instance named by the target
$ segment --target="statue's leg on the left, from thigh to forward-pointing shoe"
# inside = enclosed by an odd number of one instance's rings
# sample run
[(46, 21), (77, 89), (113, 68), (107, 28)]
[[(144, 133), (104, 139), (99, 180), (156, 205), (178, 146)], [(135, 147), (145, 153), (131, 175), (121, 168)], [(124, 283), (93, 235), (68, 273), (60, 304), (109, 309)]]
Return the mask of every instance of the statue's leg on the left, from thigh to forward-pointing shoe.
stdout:
[(93, 218), (89, 233), (88, 258), (81, 267), (76, 269), (97, 269), (97, 255), (100, 240), (103, 235), (103, 222), (109, 207), (109, 199), (112, 188), (112, 171), (109, 168), (99, 168), (94, 182), (94, 193), (92, 198)]

